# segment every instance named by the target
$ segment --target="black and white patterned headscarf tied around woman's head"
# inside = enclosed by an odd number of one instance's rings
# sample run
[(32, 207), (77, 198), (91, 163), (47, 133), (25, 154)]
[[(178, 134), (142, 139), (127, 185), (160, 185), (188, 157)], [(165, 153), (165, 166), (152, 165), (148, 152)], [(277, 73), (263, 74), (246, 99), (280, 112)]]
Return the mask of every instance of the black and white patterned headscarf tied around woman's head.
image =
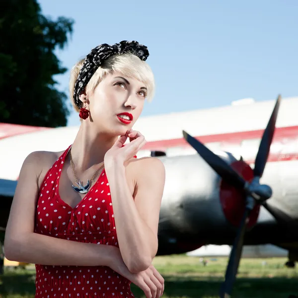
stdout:
[(123, 40), (112, 46), (102, 44), (91, 50), (91, 52), (87, 55), (74, 83), (74, 103), (77, 107), (82, 107), (82, 102), (78, 98), (79, 94), (103, 62), (113, 55), (125, 53), (132, 53), (143, 61), (146, 61), (149, 56), (147, 47), (139, 44), (137, 41)]

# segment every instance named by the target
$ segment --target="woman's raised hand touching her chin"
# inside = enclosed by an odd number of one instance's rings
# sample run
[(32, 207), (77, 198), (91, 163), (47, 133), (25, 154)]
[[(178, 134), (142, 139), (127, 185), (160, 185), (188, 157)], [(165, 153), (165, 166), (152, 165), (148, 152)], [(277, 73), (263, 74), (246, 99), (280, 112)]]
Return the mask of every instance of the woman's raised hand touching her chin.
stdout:
[[(130, 143), (124, 143), (127, 138)], [(145, 137), (138, 131), (129, 130), (125, 135), (119, 137), (111, 149), (109, 149), (104, 156), (105, 167), (109, 167), (112, 163), (124, 164), (129, 159), (133, 158), (137, 152), (147, 143)]]

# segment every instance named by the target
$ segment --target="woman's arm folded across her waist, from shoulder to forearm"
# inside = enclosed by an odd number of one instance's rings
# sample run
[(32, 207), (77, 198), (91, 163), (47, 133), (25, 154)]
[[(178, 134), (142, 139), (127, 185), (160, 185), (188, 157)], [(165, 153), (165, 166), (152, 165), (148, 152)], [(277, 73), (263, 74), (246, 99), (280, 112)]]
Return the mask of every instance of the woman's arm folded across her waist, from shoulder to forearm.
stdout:
[(34, 233), (38, 178), (45, 155), (32, 152), (22, 165), (5, 232), (5, 257), (43, 265), (109, 266), (117, 247)]

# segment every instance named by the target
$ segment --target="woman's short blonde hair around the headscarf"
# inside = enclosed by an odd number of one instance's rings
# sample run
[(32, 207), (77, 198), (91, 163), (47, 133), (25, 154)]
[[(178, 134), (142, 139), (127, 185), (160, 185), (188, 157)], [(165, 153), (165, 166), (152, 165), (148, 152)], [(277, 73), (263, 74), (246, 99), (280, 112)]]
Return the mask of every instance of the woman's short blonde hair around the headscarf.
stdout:
[[(85, 58), (79, 60), (74, 65), (70, 75), (70, 97), (74, 109), (77, 112), (79, 112), (79, 107), (74, 102), (74, 83), (84, 63), (84, 60)], [(86, 92), (92, 94), (102, 79), (113, 72), (120, 72), (127, 77), (135, 78), (143, 82), (147, 87), (147, 100), (151, 101), (155, 90), (155, 82), (152, 70), (145, 61), (142, 61), (139, 57), (131, 53), (114, 55), (107, 59), (90, 78), (85, 88)]]

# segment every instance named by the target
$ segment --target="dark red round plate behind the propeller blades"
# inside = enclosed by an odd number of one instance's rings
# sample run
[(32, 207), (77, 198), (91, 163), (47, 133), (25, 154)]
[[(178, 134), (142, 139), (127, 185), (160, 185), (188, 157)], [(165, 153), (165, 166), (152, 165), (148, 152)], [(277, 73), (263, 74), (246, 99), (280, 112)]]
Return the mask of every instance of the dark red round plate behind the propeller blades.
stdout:
[[(240, 174), (246, 181), (251, 182), (253, 179), (253, 170), (242, 160), (234, 161), (230, 166)], [(245, 193), (243, 190), (231, 186), (229, 183), (221, 180), (220, 184), (220, 200), (227, 221), (239, 226), (245, 210)], [(256, 224), (260, 212), (260, 205), (256, 204), (250, 213), (247, 227)]]

